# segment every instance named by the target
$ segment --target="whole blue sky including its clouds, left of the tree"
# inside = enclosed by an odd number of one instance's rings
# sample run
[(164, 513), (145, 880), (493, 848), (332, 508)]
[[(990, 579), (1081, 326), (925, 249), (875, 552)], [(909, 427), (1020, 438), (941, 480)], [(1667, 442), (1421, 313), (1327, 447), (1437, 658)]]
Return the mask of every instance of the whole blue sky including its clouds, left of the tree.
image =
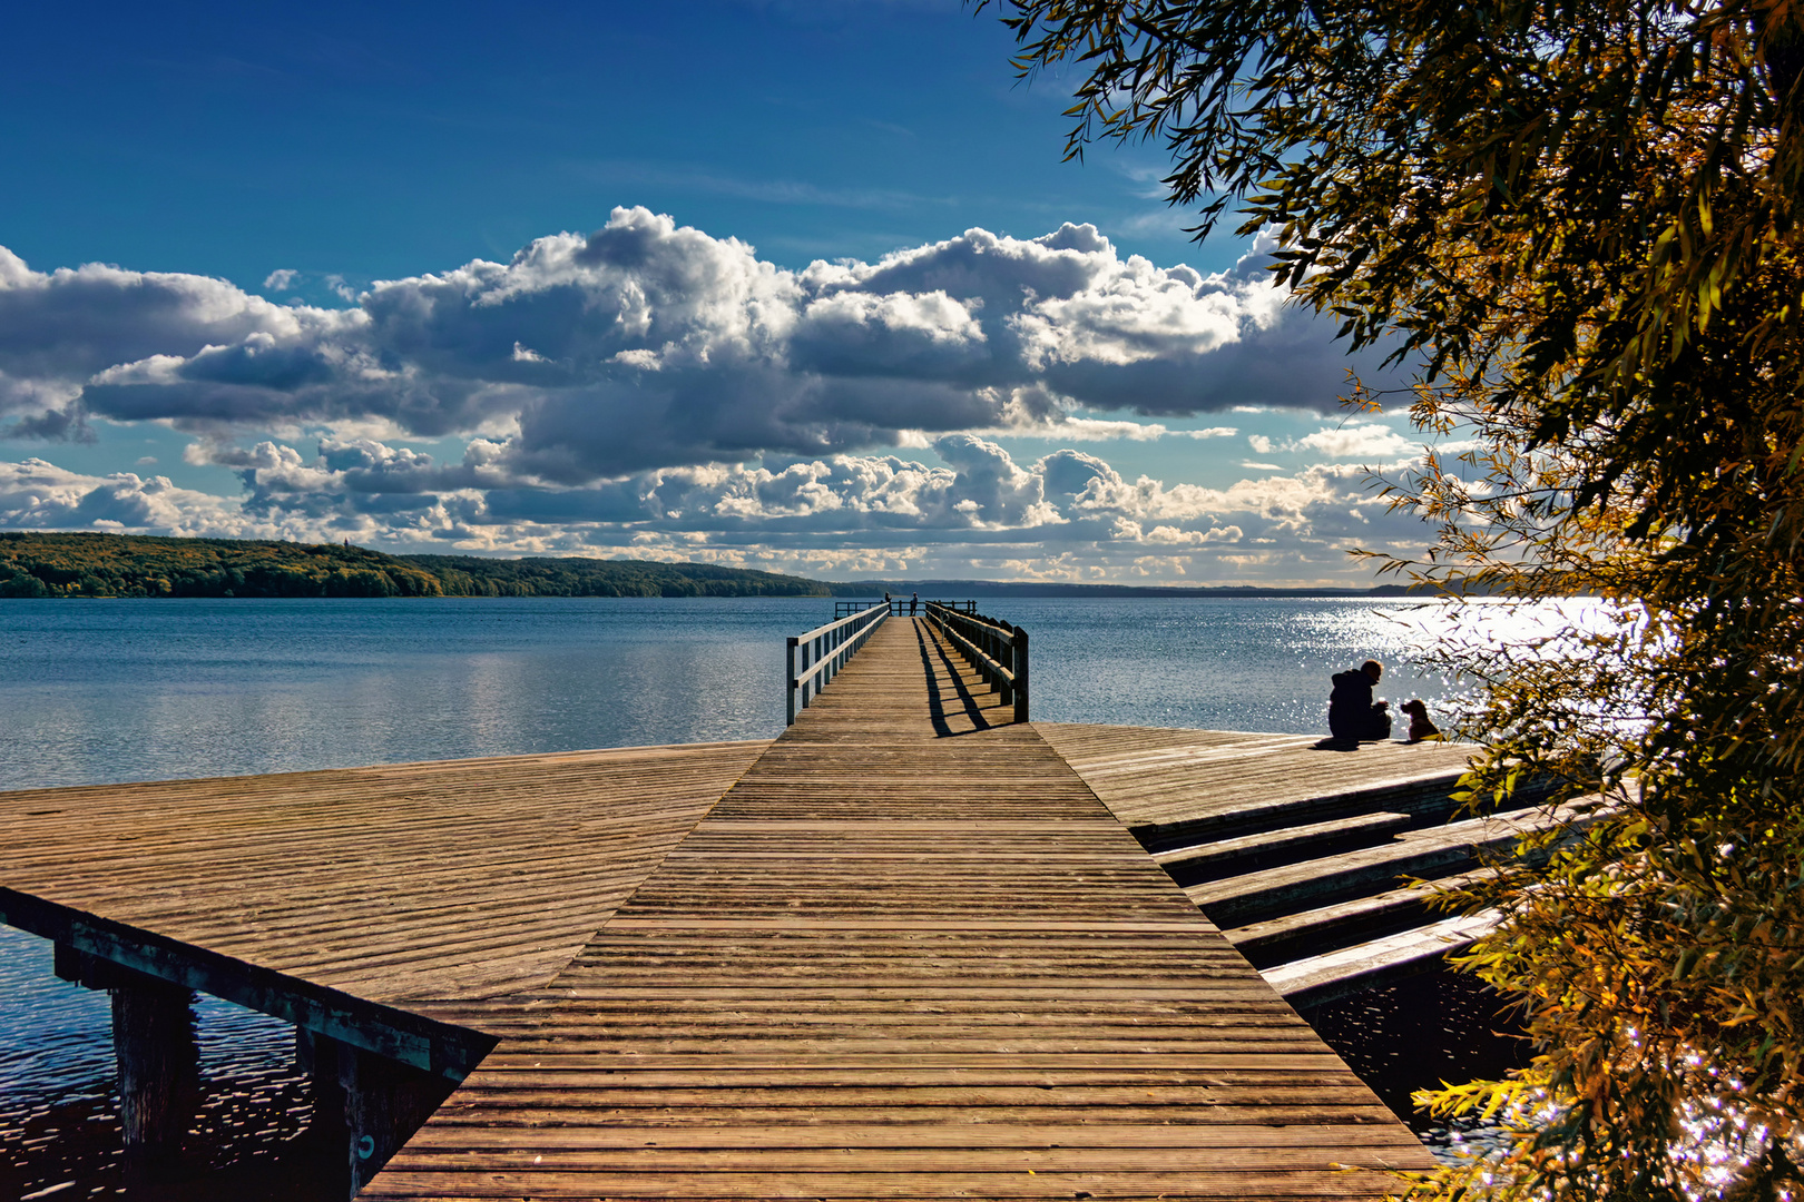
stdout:
[[(1364, 582), (1331, 330), (958, 4), (11, 5), (0, 528)], [(1364, 369), (1371, 369), (1364, 362)]]

